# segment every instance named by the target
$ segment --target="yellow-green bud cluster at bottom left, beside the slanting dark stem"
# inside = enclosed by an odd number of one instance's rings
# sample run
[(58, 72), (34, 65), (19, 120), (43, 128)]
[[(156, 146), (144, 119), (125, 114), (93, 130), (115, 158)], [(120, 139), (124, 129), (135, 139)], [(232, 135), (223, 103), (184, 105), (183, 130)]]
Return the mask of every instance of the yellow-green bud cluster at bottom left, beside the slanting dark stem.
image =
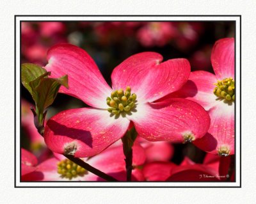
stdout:
[(86, 169), (75, 164), (69, 159), (64, 159), (63, 161), (58, 162), (57, 165), (58, 174), (60, 174), (62, 178), (68, 178), (69, 180), (76, 178), (77, 176), (83, 177), (87, 172)]

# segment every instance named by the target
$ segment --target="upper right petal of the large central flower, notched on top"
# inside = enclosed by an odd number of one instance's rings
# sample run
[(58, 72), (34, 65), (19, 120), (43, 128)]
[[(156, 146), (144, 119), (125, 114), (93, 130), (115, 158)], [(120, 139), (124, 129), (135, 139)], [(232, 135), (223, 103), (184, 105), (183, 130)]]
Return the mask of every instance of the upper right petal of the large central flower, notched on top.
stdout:
[(131, 86), (138, 100), (153, 102), (179, 90), (188, 80), (187, 59), (164, 61), (156, 52), (135, 54), (118, 65), (111, 75), (113, 90)]

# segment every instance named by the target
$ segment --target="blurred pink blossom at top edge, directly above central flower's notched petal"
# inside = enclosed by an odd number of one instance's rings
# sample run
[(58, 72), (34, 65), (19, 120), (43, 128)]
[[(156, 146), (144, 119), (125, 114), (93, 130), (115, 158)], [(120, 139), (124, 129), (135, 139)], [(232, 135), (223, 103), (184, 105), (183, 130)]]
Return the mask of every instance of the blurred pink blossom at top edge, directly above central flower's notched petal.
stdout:
[(148, 22), (140, 27), (138, 41), (145, 47), (164, 46), (177, 35), (172, 22)]

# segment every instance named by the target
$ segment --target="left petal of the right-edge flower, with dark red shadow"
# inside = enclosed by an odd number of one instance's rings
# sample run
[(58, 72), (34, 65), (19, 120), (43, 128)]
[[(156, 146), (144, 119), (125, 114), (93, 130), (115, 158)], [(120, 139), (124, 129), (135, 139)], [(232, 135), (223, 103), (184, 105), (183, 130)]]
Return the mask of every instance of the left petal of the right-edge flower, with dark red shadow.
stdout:
[(189, 80), (186, 82), (180, 90), (167, 95), (161, 100), (166, 98), (186, 98), (193, 100), (203, 106), (205, 110), (209, 110), (214, 104), (218, 103), (216, 101), (216, 95), (214, 95), (214, 83), (217, 82), (216, 75), (205, 71), (195, 71), (191, 72), (189, 75)]

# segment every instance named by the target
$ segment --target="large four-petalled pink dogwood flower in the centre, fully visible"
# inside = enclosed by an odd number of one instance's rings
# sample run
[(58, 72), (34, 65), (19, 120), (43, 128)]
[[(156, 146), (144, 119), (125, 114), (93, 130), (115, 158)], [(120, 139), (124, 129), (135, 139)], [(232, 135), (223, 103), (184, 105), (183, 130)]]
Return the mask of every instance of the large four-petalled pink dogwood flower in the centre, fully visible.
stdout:
[(45, 127), (45, 143), (56, 153), (90, 157), (124, 136), (134, 125), (148, 141), (188, 142), (204, 136), (210, 125), (204, 108), (184, 98), (159, 98), (179, 90), (188, 80), (189, 62), (156, 52), (135, 54), (118, 65), (109, 87), (92, 58), (79, 47), (62, 43), (47, 53), (52, 77), (68, 74), (67, 88), (91, 107), (69, 109)]

